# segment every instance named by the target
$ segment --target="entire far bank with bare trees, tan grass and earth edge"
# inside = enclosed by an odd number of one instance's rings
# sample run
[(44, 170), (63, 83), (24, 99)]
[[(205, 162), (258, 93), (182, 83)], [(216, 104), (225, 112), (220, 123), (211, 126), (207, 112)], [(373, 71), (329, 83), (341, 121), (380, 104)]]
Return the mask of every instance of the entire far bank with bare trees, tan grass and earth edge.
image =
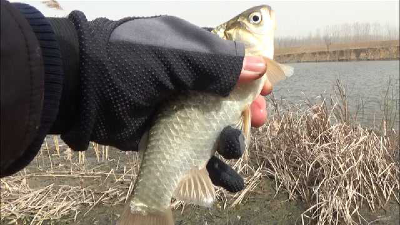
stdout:
[(274, 41), (280, 63), (399, 60), (398, 26), (378, 22), (326, 25), (307, 36), (281, 36)]

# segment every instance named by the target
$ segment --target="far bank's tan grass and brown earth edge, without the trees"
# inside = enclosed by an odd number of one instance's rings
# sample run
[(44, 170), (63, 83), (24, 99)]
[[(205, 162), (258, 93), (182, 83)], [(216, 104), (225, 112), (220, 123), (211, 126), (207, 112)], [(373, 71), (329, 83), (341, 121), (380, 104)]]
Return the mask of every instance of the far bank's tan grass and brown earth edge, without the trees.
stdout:
[(400, 60), (399, 40), (370, 41), (326, 46), (277, 48), (274, 59), (280, 63), (349, 62), (366, 60)]

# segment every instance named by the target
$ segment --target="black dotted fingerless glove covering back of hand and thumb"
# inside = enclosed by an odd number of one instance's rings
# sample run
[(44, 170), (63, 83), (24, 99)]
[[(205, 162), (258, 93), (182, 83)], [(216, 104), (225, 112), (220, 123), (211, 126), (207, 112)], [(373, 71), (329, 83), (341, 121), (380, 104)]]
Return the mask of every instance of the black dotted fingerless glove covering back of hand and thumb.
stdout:
[(186, 90), (227, 96), (242, 69), (244, 46), (173, 16), (87, 22), (73, 11), (69, 19), (79, 39), (79, 114), (60, 133), (76, 151), (90, 141), (136, 151), (166, 98)]

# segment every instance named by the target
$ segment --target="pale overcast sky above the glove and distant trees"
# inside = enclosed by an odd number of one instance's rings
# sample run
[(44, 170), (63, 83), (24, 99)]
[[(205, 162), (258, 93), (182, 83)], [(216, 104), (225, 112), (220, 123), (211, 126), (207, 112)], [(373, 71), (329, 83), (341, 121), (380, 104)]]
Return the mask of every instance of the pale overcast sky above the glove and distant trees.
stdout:
[(66, 16), (81, 10), (88, 20), (106, 17), (118, 20), (126, 16), (173, 15), (196, 24), (215, 27), (240, 12), (256, 5), (268, 4), (276, 12), (275, 36), (306, 36), (326, 25), (379, 22), (399, 27), (400, 1), (117, 1), (117, 0), (59, 0), (64, 12), (46, 8), (42, 0), (10, 0), (38, 8), (45, 16)]

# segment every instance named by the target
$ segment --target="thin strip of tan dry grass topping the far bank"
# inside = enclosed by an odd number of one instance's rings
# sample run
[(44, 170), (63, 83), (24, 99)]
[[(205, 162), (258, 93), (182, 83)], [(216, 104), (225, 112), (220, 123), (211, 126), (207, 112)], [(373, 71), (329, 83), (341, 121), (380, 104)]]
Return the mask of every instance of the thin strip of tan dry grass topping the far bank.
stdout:
[[(380, 48), (380, 47), (391, 47), (391, 46), (399, 46), (399, 40), (332, 44), (329, 46), (329, 50), (333, 51), (333, 50), (360, 49), (360, 48)], [(317, 44), (317, 45), (307, 45), (299, 47), (276, 48), (275, 55), (298, 54), (305, 52), (320, 52), (320, 51), (326, 51), (326, 46)]]

